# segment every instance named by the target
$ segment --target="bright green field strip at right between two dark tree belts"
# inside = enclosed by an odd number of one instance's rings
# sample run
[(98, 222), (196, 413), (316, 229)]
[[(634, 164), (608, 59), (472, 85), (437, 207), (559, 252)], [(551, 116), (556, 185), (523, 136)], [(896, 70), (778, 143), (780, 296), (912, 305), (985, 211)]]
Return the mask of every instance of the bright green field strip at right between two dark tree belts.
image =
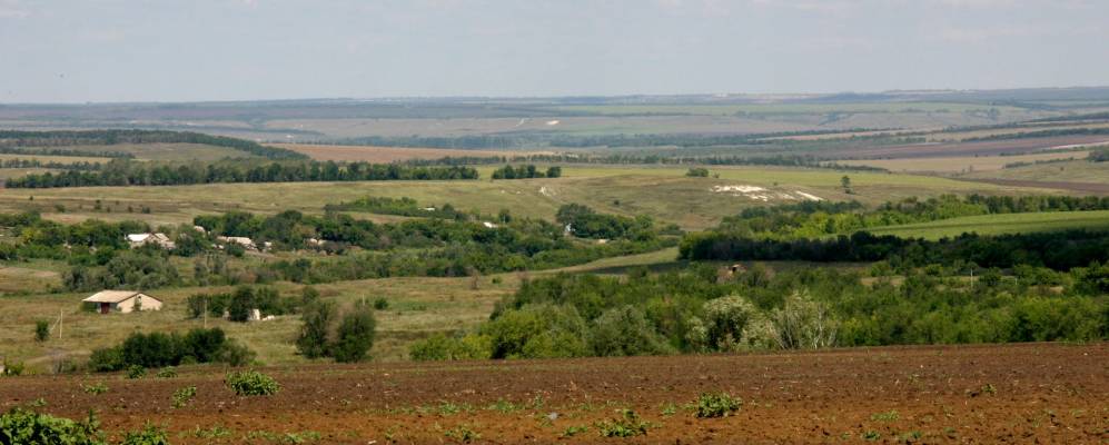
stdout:
[(1001, 235), (1066, 229), (1109, 229), (1109, 210), (980, 215), (923, 224), (877, 227), (867, 231), (874, 235), (938, 239), (964, 233)]

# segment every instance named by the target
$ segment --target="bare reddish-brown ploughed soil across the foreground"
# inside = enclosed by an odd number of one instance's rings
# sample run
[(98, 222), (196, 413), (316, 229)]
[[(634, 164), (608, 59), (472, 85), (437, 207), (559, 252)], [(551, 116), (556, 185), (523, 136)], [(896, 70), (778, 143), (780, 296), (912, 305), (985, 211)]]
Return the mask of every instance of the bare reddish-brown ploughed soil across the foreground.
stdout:
[[(275, 396), (237, 397), (216, 368), (162, 379), (119, 375), (0, 379), (0, 404), (43, 398), (46, 412), (95, 408), (106, 429), (166, 425), (174, 443), (250, 443), (318, 432), (320, 443), (1106, 443), (1109, 344), (856, 348), (821, 353), (265, 369)], [(80, 383), (105, 382), (101, 395)], [(196, 399), (174, 409), (175, 389)], [(682, 406), (703, 392), (744, 402), (724, 418)], [(497, 400), (519, 408), (493, 409)], [(670, 404), (673, 414), (664, 414)], [(503, 404), (502, 407), (505, 407)], [(631, 408), (646, 435), (602, 438), (596, 422)], [(556, 415), (555, 415), (556, 414)], [(552, 421), (549, 417), (554, 417)], [(221, 425), (230, 434), (197, 438)], [(572, 426), (588, 426), (571, 438)], [(453, 436), (453, 437), (452, 437)], [(265, 443), (255, 439), (254, 443)]]

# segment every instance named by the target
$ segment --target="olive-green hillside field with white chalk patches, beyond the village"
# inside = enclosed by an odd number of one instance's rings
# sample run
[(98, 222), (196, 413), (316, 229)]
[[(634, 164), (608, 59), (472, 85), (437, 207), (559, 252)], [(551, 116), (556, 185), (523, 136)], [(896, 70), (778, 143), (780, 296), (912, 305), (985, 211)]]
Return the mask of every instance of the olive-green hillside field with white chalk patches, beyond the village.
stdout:
[[(482, 168), (488, 178), (492, 167)], [(189, 222), (200, 214), (227, 210), (277, 212), (297, 209), (320, 212), (324, 205), (364, 196), (410, 197), (427, 205), (452, 204), (461, 209), (553, 218), (562, 205), (577, 202), (620, 215), (651, 215), (664, 222), (700, 229), (745, 207), (798, 201), (808, 194), (829, 200), (859, 200), (877, 205), (911, 196), (942, 194), (1042, 194), (1039, 189), (1013, 189), (989, 184), (944, 178), (823, 169), (769, 167), (720, 167), (720, 178), (687, 178), (684, 167), (578, 167), (565, 166), (564, 177), (493, 181), (377, 181), (216, 184), (167, 187), (90, 187), (56, 189), (0, 189), (0, 209), (38, 209), (62, 221), (85, 218), (140, 219), (154, 225)], [(848, 175), (853, 194), (840, 179)], [(714, 191), (714, 187), (754, 186), (765, 192)], [(31, 200), (33, 197), (33, 200)], [(760, 197), (765, 197), (763, 200)], [(96, 200), (103, 209), (93, 211)], [(58, 211), (57, 206), (65, 207)], [(142, 214), (140, 208), (150, 208)], [(128, 211), (130, 208), (131, 211)], [(110, 209), (110, 211), (109, 211)]]

